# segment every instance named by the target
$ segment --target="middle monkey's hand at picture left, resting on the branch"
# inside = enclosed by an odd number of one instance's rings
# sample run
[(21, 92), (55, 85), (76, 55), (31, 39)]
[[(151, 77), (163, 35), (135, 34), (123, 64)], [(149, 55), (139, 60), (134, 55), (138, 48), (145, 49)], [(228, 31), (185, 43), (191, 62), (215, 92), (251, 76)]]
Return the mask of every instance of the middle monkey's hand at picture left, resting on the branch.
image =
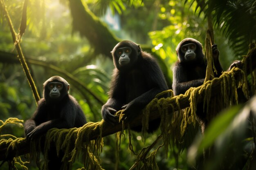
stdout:
[(113, 126), (119, 122), (119, 116), (116, 116), (115, 113), (117, 113), (117, 110), (111, 107), (103, 106), (101, 109), (101, 115), (104, 121)]

